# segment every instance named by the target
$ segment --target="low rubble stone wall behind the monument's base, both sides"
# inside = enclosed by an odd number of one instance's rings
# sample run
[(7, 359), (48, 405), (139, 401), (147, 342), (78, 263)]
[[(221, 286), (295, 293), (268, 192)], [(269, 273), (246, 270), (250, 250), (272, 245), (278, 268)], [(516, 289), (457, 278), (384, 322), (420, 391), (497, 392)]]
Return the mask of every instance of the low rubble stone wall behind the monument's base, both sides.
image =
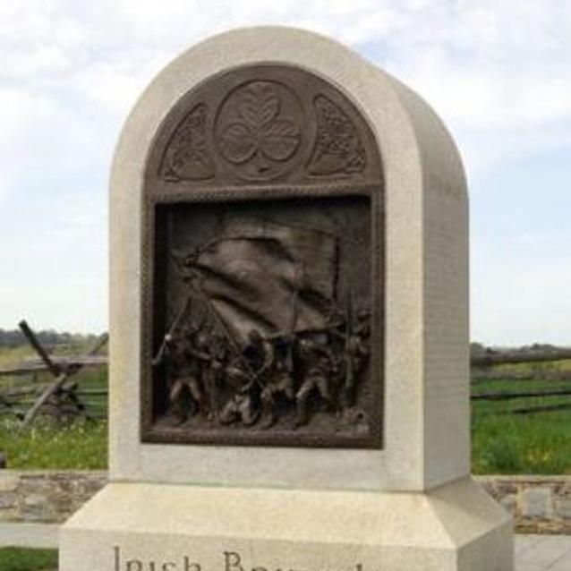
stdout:
[[(571, 476), (480, 476), (520, 533), (571, 534)], [(64, 522), (107, 481), (105, 472), (0, 471), (0, 524)]]

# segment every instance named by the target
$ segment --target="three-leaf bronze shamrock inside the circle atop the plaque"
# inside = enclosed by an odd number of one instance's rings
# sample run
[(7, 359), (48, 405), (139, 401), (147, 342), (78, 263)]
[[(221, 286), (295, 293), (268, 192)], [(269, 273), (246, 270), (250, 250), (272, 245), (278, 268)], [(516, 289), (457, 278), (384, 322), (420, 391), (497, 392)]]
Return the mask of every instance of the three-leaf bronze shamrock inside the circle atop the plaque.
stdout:
[(300, 144), (300, 132), (291, 119), (280, 117), (281, 100), (268, 83), (257, 82), (235, 94), (234, 121), (220, 134), (220, 152), (234, 165), (262, 155), (282, 162)]

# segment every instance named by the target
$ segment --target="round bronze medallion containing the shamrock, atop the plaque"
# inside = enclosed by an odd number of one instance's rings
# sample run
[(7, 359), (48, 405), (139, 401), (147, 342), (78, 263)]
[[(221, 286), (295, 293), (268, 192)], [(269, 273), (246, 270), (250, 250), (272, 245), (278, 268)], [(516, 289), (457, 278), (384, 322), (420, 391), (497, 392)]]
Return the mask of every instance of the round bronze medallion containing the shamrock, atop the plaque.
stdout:
[(274, 81), (235, 89), (217, 117), (217, 147), (246, 180), (281, 175), (300, 147), (301, 108), (293, 93)]

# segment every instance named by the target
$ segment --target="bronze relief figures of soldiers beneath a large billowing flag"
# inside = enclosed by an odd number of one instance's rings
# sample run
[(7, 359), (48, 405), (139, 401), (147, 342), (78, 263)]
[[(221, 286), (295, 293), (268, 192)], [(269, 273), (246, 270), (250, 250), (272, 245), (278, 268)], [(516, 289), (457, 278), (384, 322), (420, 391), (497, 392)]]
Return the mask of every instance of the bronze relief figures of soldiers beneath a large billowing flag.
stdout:
[(166, 363), (174, 422), (359, 422), (370, 310), (351, 289), (336, 298), (335, 236), (257, 219), (171, 254), (185, 297), (153, 363)]

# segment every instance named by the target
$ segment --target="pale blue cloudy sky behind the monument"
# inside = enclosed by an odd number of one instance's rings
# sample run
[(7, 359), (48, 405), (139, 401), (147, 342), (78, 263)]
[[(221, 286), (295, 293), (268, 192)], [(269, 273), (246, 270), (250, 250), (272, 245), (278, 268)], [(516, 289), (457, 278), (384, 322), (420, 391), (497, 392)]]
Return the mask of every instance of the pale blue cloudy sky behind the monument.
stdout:
[(243, 25), (352, 47), (425, 98), (464, 159), (471, 336), (571, 345), (571, 0), (3, 0), (0, 328), (107, 328), (107, 182), (154, 75)]

